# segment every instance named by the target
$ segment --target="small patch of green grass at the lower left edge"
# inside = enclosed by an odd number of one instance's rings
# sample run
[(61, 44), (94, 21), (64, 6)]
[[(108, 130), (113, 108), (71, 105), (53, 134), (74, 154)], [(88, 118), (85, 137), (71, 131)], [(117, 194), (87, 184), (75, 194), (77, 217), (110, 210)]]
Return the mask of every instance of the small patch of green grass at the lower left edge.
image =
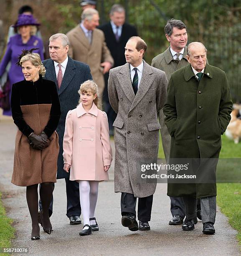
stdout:
[[(1, 198), (2, 195), (0, 193), (0, 248), (9, 248), (11, 246), (11, 239), (14, 237), (15, 229), (11, 226), (13, 221), (6, 216)], [(6, 254), (0, 253), (0, 255)]]

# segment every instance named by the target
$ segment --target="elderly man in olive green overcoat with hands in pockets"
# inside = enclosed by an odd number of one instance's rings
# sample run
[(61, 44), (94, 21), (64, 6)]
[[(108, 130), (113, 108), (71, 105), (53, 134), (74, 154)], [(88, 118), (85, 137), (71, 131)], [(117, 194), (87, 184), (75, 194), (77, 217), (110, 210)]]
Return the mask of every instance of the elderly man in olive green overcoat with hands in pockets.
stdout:
[[(207, 50), (202, 43), (189, 44), (187, 51), (190, 64), (172, 74), (163, 108), (172, 137), (170, 159), (200, 159), (193, 172), (198, 177), (202, 174), (215, 177), (216, 164), (207, 167), (204, 160), (218, 159), (221, 134), (231, 120), (228, 80), (225, 72), (206, 63)], [(183, 230), (194, 229), (197, 223), (196, 198), (200, 198), (203, 233), (215, 233), (215, 182), (168, 183), (167, 195), (183, 197), (186, 214)]]

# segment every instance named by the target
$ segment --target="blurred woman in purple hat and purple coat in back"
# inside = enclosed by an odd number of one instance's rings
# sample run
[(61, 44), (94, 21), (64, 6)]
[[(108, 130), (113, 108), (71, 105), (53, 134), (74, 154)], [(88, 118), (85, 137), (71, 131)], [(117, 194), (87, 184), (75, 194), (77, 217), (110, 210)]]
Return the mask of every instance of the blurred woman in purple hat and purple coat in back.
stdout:
[[(18, 20), (14, 25), (14, 28), (18, 31), (18, 34), (12, 36), (8, 43), (7, 50), (3, 56), (0, 63), (0, 77), (4, 74), (6, 67), (10, 63), (10, 69), (8, 72), (8, 79), (10, 85), (16, 82), (22, 81), (24, 79), (21, 67), (16, 66), (18, 62), (18, 55), (21, 54), (22, 50), (30, 50), (31, 48), (38, 48), (35, 53), (38, 53), (43, 60), (43, 41), (37, 36), (33, 36), (36, 30), (36, 26), (40, 24), (33, 18), (33, 15), (20, 14)], [(9, 101), (11, 98), (10, 88)], [(12, 115), (11, 110), (4, 110), (3, 115)]]

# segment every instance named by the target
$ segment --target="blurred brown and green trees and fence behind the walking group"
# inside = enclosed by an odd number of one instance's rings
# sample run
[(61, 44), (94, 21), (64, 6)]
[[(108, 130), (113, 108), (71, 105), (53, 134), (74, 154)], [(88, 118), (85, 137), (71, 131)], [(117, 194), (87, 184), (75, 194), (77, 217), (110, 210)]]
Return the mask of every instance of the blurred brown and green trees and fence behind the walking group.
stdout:
[[(97, 0), (100, 23), (109, 20), (109, 10), (121, 3), (127, 20), (137, 27), (147, 42), (146, 61), (168, 47), (165, 23), (180, 19), (187, 26), (188, 42), (201, 41), (208, 49), (211, 65), (223, 69), (230, 83), (234, 102), (241, 101), (241, 1), (240, 0)], [(5, 32), (17, 19), (21, 5), (31, 5), (41, 22), (41, 33), (48, 45), (54, 33), (66, 33), (80, 21), (80, 0), (0, 0), (0, 19)]]

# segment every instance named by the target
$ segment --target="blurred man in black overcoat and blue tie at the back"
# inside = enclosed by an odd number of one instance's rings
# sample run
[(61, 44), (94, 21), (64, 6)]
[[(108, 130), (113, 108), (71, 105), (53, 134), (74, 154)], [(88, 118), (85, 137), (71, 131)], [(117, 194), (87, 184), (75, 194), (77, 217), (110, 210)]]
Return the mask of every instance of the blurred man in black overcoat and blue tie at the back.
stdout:
[[(107, 47), (114, 59), (114, 67), (122, 66), (126, 63), (124, 48), (128, 39), (137, 36), (137, 30), (134, 26), (125, 23), (125, 9), (122, 5), (115, 4), (110, 10), (110, 21), (99, 27), (104, 32)], [(103, 93), (104, 111), (107, 113), (109, 121), (110, 135), (113, 135), (113, 123), (116, 113), (109, 104), (108, 84), (109, 72), (104, 75), (105, 88)]]

